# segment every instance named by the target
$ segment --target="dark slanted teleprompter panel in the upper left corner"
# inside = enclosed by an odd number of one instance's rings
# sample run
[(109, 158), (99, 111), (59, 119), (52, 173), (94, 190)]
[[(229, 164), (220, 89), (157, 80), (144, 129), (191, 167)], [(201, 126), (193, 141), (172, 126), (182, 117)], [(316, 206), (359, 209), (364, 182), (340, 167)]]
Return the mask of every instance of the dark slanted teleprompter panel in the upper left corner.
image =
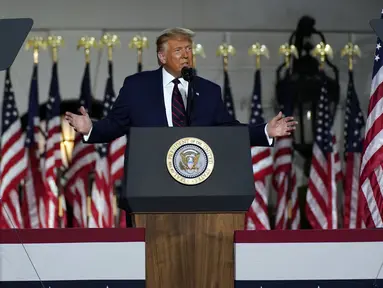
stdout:
[(0, 71), (8, 69), (15, 60), (25, 39), (32, 29), (30, 18), (0, 19)]

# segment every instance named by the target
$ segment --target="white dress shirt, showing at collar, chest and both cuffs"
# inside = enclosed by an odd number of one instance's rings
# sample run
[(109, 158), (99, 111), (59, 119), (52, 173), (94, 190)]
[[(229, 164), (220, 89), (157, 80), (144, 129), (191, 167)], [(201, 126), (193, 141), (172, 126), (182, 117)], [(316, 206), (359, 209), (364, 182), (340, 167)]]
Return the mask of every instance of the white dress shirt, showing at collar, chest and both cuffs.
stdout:
[[(168, 126), (173, 127), (173, 117), (172, 117), (172, 94), (173, 94), (173, 88), (174, 83), (172, 82), (174, 79), (174, 76), (171, 75), (168, 71), (166, 71), (165, 68), (162, 68), (162, 86), (164, 89), (164, 102), (165, 102), (165, 110), (166, 110), (166, 118), (168, 120)], [(187, 91), (188, 91), (188, 84), (189, 82), (185, 81), (183, 78), (179, 78), (180, 83), (178, 84), (178, 89), (181, 92), (182, 100), (184, 101), (184, 106), (186, 109), (186, 103), (187, 103)], [(265, 134), (269, 141), (269, 144), (271, 145), (273, 143), (273, 138), (269, 137), (269, 134), (267, 133), (267, 125), (265, 125)], [(90, 128), (90, 131), (88, 135), (84, 135), (84, 140), (87, 141), (89, 139), (90, 133), (92, 133), (92, 128)]]

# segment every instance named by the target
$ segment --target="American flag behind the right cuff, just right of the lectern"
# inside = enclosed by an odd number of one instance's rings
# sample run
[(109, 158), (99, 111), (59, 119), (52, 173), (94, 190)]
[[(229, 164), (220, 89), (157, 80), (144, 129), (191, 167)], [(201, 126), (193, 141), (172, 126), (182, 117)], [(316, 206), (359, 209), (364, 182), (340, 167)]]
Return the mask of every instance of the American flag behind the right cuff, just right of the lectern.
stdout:
[[(251, 103), (250, 125), (262, 124), (263, 110), (261, 104), (261, 71), (257, 69), (254, 76), (254, 88)], [(253, 163), (255, 197), (246, 213), (246, 230), (269, 230), (268, 187), (266, 178), (273, 173), (273, 157), (269, 147), (251, 147)]]

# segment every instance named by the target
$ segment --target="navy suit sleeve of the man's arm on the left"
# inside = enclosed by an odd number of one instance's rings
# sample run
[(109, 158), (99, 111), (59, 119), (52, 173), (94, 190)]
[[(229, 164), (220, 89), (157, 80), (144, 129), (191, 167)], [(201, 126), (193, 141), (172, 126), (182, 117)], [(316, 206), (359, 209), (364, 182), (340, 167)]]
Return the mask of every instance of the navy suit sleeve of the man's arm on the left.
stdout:
[[(125, 78), (112, 109), (105, 118), (93, 121), (89, 137), (84, 137), (85, 143), (107, 143), (127, 134), (131, 122), (128, 84), (128, 78)], [(88, 138), (87, 141), (86, 138)]]

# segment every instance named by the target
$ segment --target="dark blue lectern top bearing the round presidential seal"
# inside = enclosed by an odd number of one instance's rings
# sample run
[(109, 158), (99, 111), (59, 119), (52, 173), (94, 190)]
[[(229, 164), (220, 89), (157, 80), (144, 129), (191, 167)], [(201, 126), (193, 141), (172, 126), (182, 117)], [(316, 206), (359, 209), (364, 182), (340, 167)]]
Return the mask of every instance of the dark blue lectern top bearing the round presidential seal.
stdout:
[(125, 153), (126, 211), (244, 212), (254, 199), (247, 127), (131, 127)]

